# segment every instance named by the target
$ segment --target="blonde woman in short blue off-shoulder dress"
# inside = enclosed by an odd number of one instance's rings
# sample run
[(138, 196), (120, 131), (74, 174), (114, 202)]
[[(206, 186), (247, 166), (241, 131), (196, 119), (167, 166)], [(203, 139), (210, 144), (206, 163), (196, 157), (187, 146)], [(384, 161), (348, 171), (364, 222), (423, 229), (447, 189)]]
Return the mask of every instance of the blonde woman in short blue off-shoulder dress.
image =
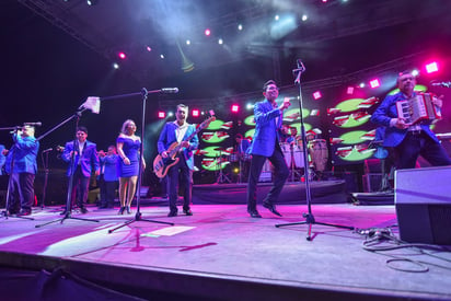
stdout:
[[(119, 200), (120, 209), (118, 215), (124, 211), (131, 213), (130, 204), (135, 197), (136, 184), (139, 174), (139, 150), (141, 139), (135, 135), (136, 125), (131, 119), (125, 120), (117, 137), (117, 175), (119, 176)], [(142, 169), (146, 169), (146, 162), (142, 159)]]

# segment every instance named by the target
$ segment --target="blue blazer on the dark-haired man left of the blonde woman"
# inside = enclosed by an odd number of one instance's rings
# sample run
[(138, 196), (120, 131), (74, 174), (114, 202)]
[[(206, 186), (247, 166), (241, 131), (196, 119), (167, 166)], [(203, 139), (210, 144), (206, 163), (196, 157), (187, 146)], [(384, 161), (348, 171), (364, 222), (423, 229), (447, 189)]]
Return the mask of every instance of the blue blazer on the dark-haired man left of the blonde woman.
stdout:
[[(73, 150), (73, 141), (67, 142), (65, 146), (65, 151), (62, 152), (62, 160), (66, 162), (70, 162), (70, 152)], [(83, 152), (78, 153), (79, 151), (77, 150), (77, 154), (73, 160), (73, 164), (69, 165), (67, 175), (70, 176), (71, 173), (73, 173), (77, 169), (77, 165), (79, 164), (80, 161), (80, 166), (81, 166), (81, 172), (83, 173), (83, 176), (90, 177), (92, 170), (94, 169), (95, 172), (100, 171), (100, 161), (99, 161), (99, 155), (97, 155), (97, 146), (91, 141), (86, 140), (86, 143), (84, 146)]]

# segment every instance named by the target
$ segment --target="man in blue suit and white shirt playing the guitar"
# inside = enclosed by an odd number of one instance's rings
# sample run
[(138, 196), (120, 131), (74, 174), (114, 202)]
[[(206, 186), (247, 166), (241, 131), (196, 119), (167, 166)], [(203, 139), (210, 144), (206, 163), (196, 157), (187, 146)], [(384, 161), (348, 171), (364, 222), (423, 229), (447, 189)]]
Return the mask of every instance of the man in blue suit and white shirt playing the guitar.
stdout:
[[(158, 151), (163, 160), (177, 160), (167, 171), (167, 187), (169, 187), (169, 201), (170, 212), (167, 217), (177, 216), (177, 186), (178, 186), (178, 173), (181, 174), (182, 184), (184, 187), (184, 202), (183, 212), (186, 216), (193, 216), (193, 211), (189, 209), (192, 201), (192, 174), (194, 170), (193, 150), (196, 150), (199, 146), (199, 139), (197, 135), (194, 135), (189, 141), (186, 141), (193, 132), (196, 131), (194, 125), (189, 125), (186, 121), (188, 115), (188, 107), (184, 104), (180, 104), (175, 112), (175, 121), (166, 123), (163, 130), (160, 134), (158, 140)], [(180, 152), (174, 158), (170, 158), (169, 153), (175, 147), (181, 146)]]

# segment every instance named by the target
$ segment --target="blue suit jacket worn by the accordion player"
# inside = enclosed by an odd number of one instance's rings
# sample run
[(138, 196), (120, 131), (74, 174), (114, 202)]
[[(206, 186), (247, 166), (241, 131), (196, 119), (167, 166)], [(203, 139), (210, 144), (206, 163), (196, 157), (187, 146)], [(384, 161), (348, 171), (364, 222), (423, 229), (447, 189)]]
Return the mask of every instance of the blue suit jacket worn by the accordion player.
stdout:
[[(414, 95), (416, 95), (414, 93)], [(380, 126), (384, 126), (385, 128), (385, 139), (383, 141), (384, 147), (396, 147), (403, 140), (407, 134), (407, 129), (398, 129), (396, 127), (390, 126), (390, 120), (392, 118), (397, 118), (397, 111), (396, 111), (396, 102), (405, 101), (407, 96), (404, 93), (398, 92), (394, 95), (389, 95), (382, 102), (382, 104), (374, 111), (373, 115), (371, 116), (371, 121), (378, 124)], [(437, 139), (436, 135), (430, 130), (429, 124), (421, 124), (421, 129), (432, 138), (437, 143), (439, 140)]]

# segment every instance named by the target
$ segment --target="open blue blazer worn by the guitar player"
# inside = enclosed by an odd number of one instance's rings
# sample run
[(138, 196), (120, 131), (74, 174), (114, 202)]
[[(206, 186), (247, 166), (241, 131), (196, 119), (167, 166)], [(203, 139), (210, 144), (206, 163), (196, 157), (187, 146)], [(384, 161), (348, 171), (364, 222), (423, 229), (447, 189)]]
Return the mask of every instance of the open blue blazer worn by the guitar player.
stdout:
[[(177, 137), (175, 132), (176, 129), (177, 129), (177, 125), (174, 124), (173, 121), (166, 123), (164, 125), (164, 128), (161, 131), (160, 138), (158, 139), (158, 143), (157, 143), (159, 153), (162, 153), (163, 151), (167, 150), (172, 143), (177, 141)], [(183, 140), (188, 138), (195, 131), (196, 131), (196, 127), (194, 125), (189, 125), (188, 128), (186, 129)], [(195, 135), (189, 140), (189, 148), (188, 149), (184, 148), (182, 150), (185, 157), (186, 164), (188, 165), (189, 170), (194, 170), (193, 150), (196, 150), (198, 147), (199, 147), (199, 138), (197, 138), (197, 135)]]

